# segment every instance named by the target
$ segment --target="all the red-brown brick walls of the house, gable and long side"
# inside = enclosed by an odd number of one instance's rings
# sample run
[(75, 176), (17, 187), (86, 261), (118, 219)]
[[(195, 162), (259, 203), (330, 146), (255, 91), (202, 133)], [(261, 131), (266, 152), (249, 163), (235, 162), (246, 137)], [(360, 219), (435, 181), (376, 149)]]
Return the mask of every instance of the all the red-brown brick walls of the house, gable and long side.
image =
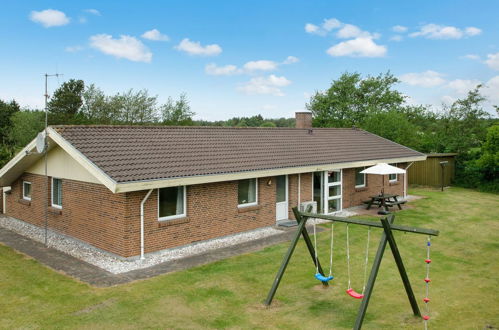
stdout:
[[(258, 179), (258, 205), (245, 208), (237, 206), (237, 181), (188, 186), (187, 216), (167, 221), (158, 221), (158, 197), (154, 190), (144, 205), (145, 252), (273, 226), (276, 187), (271, 179)], [(386, 178), (385, 191), (402, 195), (403, 179), (399, 175), (396, 184), (389, 184)], [(22, 199), (23, 180), (32, 183), (31, 201)], [(44, 196), (45, 185), (43, 176), (23, 174), (6, 195), (6, 214), (43, 227), (47, 197), (50, 205), (50, 195)], [(312, 173), (288, 176), (290, 218), (294, 218), (291, 209), (298, 205), (298, 198), (300, 202), (312, 200), (312, 187)], [(380, 176), (368, 176), (366, 188), (359, 190), (355, 189), (354, 169), (343, 170), (343, 208), (361, 204), (380, 189)], [(67, 179), (62, 180), (62, 191), (63, 208), (49, 207), (50, 228), (123, 257), (139, 255), (140, 202), (147, 191), (113, 194), (103, 185)]]

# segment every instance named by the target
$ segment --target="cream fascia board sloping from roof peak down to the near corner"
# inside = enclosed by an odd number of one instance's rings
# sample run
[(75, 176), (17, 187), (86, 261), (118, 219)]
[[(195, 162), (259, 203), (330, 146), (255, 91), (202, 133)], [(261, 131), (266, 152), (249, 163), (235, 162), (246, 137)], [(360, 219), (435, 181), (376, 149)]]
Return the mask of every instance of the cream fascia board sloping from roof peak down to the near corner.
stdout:
[(109, 177), (103, 170), (101, 170), (97, 165), (92, 163), (85, 155), (83, 155), (78, 149), (76, 149), (71, 143), (64, 139), (56, 130), (52, 127), (47, 129), (48, 136), (57, 143), (64, 151), (66, 151), (71, 157), (73, 157), (81, 166), (83, 166), (88, 172), (97, 178), (104, 186), (106, 186), (113, 193), (116, 192), (116, 181)]

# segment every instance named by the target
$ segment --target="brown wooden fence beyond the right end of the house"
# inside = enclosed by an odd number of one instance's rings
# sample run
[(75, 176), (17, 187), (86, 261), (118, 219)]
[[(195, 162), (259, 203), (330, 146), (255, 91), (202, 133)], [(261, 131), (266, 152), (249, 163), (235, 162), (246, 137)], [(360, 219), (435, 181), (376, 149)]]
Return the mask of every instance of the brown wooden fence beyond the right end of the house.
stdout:
[(428, 154), (425, 161), (414, 162), (408, 170), (408, 183), (423, 186), (440, 186), (442, 184), (442, 166), (440, 166), (440, 162), (448, 162), (444, 169), (444, 186), (451, 185), (454, 180), (456, 155), (454, 153)]

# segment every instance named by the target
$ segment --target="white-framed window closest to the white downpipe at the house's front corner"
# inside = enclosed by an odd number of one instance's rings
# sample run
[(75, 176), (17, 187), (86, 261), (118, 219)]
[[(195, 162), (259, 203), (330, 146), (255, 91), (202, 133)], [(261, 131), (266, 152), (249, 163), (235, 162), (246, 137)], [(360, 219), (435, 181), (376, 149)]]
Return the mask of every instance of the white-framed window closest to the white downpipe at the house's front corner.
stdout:
[(158, 189), (158, 220), (185, 217), (185, 186)]

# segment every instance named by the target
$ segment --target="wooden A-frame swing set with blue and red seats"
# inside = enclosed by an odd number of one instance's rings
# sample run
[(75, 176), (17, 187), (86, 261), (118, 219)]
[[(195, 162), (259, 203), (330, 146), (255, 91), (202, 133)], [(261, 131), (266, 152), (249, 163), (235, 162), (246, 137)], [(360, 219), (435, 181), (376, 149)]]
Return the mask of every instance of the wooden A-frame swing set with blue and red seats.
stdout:
[[(417, 228), (417, 227), (410, 227), (410, 226), (402, 226), (402, 225), (395, 225), (393, 224), (395, 220), (395, 216), (393, 214), (390, 214), (387, 218), (382, 218), (380, 219), (381, 223), (378, 222), (373, 222), (373, 221), (366, 221), (366, 220), (360, 220), (360, 219), (350, 219), (350, 218), (340, 218), (340, 217), (334, 217), (330, 215), (324, 215), (324, 214), (315, 214), (315, 213), (310, 213), (311, 207), (308, 207), (305, 212), (300, 212), (298, 211), (298, 208), (294, 207), (293, 208), (293, 213), (295, 215), (296, 220), (298, 221), (298, 229), (295, 232), (295, 235), (293, 236), (293, 239), (291, 241), (291, 245), (289, 246), (286, 254), (284, 255), (284, 259), (281, 263), (281, 267), (279, 268), (277, 275), (274, 279), (274, 282), (272, 284), (272, 287), (267, 295), (267, 299), (265, 300), (265, 305), (270, 306), (272, 303), (272, 299), (274, 298), (274, 295), (277, 291), (277, 288), (279, 287), (279, 284), (281, 282), (281, 279), (284, 275), (284, 272), (286, 271), (286, 267), (288, 266), (289, 260), (291, 259), (291, 256), (293, 255), (293, 252), (295, 250), (296, 244), (298, 243), (298, 240), (300, 239), (300, 236), (303, 236), (303, 240), (305, 241), (305, 244), (307, 246), (307, 249), (310, 253), (310, 256), (314, 262), (315, 265), (315, 275), (314, 277), (322, 282), (323, 286), (328, 286), (329, 282), (334, 279), (333, 276), (333, 253), (334, 253), (334, 224), (335, 222), (338, 223), (346, 223), (346, 257), (347, 257), (347, 274), (348, 274), (348, 287), (346, 290), (346, 293), (356, 299), (361, 299), (361, 304), (359, 307), (359, 312), (357, 314), (357, 318), (355, 320), (355, 325), (354, 329), (360, 329), (362, 327), (362, 322), (364, 320), (364, 316), (367, 311), (367, 306), (369, 304), (369, 299), (371, 298), (371, 294), (374, 288), (374, 282), (376, 281), (376, 276), (378, 275), (379, 267), (381, 265), (381, 259), (383, 258), (383, 254), (385, 252), (385, 248), (387, 243), (390, 245), (390, 249), (392, 251), (393, 257), (395, 259), (395, 263), (397, 264), (398, 271), (400, 273), (400, 277), (402, 278), (402, 282), (404, 284), (405, 291), (407, 293), (407, 297), (409, 298), (409, 302), (412, 307), (412, 311), (414, 313), (414, 316), (421, 317), (421, 312), (419, 310), (418, 303), (416, 301), (416, 298), (414, 296), (414, 292), (411, 287), (411, 283), (409, 282), (409, 277), (407, 276), (407, 272), (404, 267), (404, 263), (402, 262), (402, 257), (400, 256), (400, 252), (397, 247), (397, 243), (395, 242), (395, 237), (393, 236), (392, 230), (397, 230), (397, 231), (402, 231), (406, 233), (415, 233), (415, 234), (425, 234), (428, 235), (428, 241), (426, 244), (426, 249), (427, 249), (427, 255), (425, 259), (426, 263), (426, 277), (424, 279), (424, 282), (426, 283), (426, 296), (423, 299), (423, 302), (425, 303), (425, 310), (426, 313), (424, 316), (422, 316), (424, 320), (424, 325), (425, 329), (428, 326), (428, 320), (430, 319), (429, 315), (429, 283), (430, 283), (430, 237), (431, 236), (438, 236), (439, 232), (437, 230), (433, 229), (424, 229), (424, 228)], [(317, 235), (316, 235), (316, 225), (315, 221), (313, 224), (313, 234), (314, 234), (314, 242), (312, 243), (310, 236), (308, 234), (307, 228), (306, 228), (306, 223), (308, 219), (323, 219), (323, 220), (328, 220), (331, 221), (331, 244), (329, 247), (329, 273), (328, 275), (325, 275), (321, 263), (319, 261), (319, 255), (317, 251)], [(351, 286), (351, 278), (350, 278), (350, 233), (349, 233), (349, 226), (350, 225), (360, 225), (360, 226), (367, 226), (367, 244), (366, 244), (366, 252), (365, 252), (365, 259), (364, 259), (364, 285), (362, 288), (362, 292), (359, 293), (355, 291), (352, 286)], [(371, 273), (369, 274), (369, 277), (367, 277), (367, 268), (369, 264), (369, 244), (370, 244), (370, 238), (371, 238), (371, 228), (382, 228), (383, 233), (381, 235), (381, 239), (378, 245), (378, 250), (376, 252), (376, 256), (374, 257), (373, 265), (371, 268)]]

